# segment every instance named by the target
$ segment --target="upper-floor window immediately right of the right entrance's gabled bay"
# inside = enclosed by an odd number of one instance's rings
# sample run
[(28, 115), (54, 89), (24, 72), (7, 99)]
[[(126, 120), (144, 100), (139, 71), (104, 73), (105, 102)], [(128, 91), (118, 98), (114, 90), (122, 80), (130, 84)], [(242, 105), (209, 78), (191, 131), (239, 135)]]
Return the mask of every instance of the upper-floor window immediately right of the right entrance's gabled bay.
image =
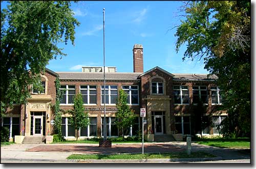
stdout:
[(189, 104), (188, 86), (174, 86), (174, 103)]

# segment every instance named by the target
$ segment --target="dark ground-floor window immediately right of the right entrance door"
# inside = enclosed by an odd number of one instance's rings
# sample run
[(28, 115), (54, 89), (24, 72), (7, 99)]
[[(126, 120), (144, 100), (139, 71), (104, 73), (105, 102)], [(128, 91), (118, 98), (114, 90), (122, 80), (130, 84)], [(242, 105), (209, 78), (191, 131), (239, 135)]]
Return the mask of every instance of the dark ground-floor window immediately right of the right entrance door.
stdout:
[(175, 129), (178, 134), (191, 134), (190, 116), (176, 116)]

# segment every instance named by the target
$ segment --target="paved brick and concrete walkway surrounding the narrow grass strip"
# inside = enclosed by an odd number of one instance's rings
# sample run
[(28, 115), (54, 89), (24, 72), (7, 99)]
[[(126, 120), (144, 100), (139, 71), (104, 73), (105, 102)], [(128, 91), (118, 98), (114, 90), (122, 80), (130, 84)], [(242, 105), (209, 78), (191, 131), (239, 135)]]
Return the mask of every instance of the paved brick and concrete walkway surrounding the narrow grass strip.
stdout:
[[(144, 143), (144, 153), (185, 151), (185, 142)], [(213, 161), (225, 159), (250, 159), (250, 153), (243, 150), (221, 149), (191, 144), (191, 152), (205, 151), (215, 158), (188, 159), (144, 159), (144, 160), (67, 160), (71, 154), (117, 154), (141, 153), (141, 144), (112, 144), (112, 148), (98, 147), (98, 144), (13, 144), (1, 147), (1, 163), (166, 163), (188, 161)]]

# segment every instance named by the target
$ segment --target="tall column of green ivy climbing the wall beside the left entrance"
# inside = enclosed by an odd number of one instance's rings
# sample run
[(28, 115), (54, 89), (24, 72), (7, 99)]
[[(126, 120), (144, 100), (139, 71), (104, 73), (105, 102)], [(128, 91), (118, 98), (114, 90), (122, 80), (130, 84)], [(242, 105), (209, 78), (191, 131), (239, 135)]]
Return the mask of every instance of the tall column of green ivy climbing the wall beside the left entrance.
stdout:
[(56, 89), (56, 101), (55, 101), (55, 105), (54, 105), (54, 129), (55, 129), (55, 133), (57, 133), (59, 135), (59, 137), (62, 137), (62, 133), (61, 133), (61, 110), (59, 108), (59, 104), (60, 104), (60, 100), (63, 96), (63, 93), (65, 91), (61, 91), (60, 90), (60, 81), (59, 78), (56, 77), (55, 80), (55, 89)]

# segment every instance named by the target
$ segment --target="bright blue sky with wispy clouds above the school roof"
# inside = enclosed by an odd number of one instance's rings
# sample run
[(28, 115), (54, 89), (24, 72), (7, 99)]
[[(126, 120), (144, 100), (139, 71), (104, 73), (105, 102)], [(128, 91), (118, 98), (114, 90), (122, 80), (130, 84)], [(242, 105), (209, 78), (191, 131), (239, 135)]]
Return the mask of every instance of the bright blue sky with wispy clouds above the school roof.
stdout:
[[(2, 7), (6, 2), (1, 3)], [(103, 8), (105, 8), (105, 66), (133, 72), (133, 46), (143, 45), (144, 71), (156, 66), (170, 73), (208, 73), (202, 62), (182, 61), (185, 46), (176, 53), (180, 1), (79, 1), (72, 3), (75, 46), (60, 44), (67, 57), (51, 60), (56, 72), (81, 72), (82, 66), (103, 66)]]

